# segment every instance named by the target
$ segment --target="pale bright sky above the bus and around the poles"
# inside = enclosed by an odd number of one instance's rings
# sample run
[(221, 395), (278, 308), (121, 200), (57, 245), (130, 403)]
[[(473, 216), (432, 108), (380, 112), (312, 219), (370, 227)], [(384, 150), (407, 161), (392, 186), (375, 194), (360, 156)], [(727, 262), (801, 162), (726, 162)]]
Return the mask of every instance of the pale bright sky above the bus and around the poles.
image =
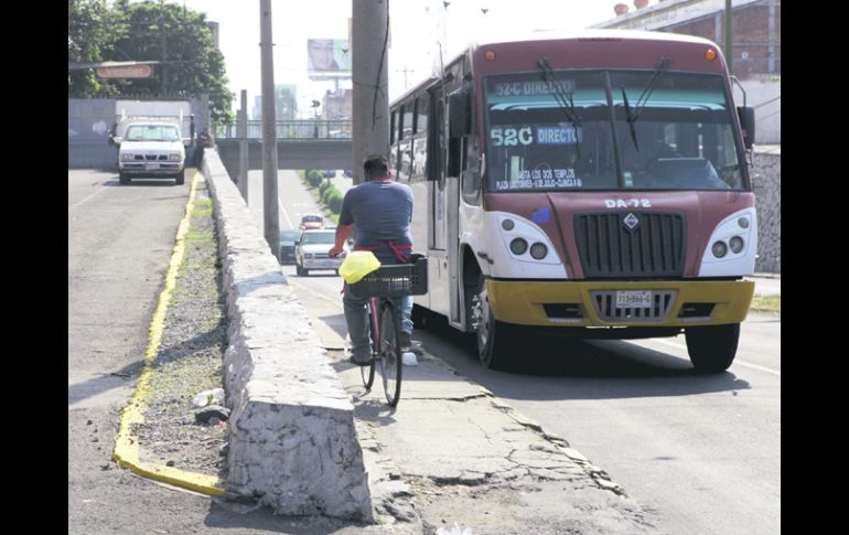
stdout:
[[(613, 6), (620, 1), (627, 0), (389, 0), (389, 99), (430, 75), (439, 57), (438, 42), (450, 58), (479, 40), (603, 22), (615, 15)], [(259, 0), (166, 2), (205, 12), (208, 21), (219, 24), (218, 44), (236, 94), (233, 109), (240, 106), (240, 90), (247, 89), (252, 113), (261, 88)], [(271, 1), (275, 83), (297, 84), (299, 113), (304, 116), (312, 114), (312, 99), (336, 87), (336, 82), (309, 79), (307, 40), (347, 39), (351, 11), (352, 0)], [(351, 81), (340, 81), (338, 87), (350, 88)]]

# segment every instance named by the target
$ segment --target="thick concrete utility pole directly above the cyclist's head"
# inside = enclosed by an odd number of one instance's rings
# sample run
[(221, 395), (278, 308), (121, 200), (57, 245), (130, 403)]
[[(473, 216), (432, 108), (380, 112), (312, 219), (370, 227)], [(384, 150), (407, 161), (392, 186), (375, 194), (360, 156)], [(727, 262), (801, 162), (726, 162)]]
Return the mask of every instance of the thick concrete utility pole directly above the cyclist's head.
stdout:
[(354, 184), (368, 154), (389, 157), (388, 0), (352, 0)]

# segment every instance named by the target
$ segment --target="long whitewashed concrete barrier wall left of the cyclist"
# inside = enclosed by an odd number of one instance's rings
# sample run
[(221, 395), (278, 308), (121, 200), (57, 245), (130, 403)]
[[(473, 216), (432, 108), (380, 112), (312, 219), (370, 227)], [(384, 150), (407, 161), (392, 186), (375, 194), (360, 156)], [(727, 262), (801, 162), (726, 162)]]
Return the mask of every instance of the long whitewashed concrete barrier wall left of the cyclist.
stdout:
[(277, 514), (373, 521), (354, 407), (215, 150), (215, 202), (228, 347), (228, 490)]

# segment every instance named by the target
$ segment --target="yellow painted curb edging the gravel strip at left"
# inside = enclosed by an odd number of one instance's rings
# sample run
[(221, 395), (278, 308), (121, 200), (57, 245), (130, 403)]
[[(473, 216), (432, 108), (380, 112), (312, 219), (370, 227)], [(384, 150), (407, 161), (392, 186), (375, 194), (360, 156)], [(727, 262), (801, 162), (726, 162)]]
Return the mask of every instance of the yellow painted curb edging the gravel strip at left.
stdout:
[(176, 243), (174, 244), (174, 250), (171, 254), (171, 264), (168, 267), (168, 274), (165, 275), (165, 287), (159, 295), (159, 302), (157, 309), (153, 311), (153, 318), (150, 320), (150, 329), (148, 336), (148, 349), (144, 352), (144, 368), (139, 375), (139, 381), (136, 385), (136, 393), (130, 398), (130, 403), (121, 410), (120, 421), (118, 424), (118, 435), (115, 437), (115, 450), (112, 451), (112, 459), (121, 467), (130, 469), (130, 471), (143, 475), (144, 478), (162, 481), (185, 489), (191, 489), (196, 492), (208, 495), (224, 494), (225, 482), (215, 475), (208, 475), (205, 473), (187, 472), (185, 470), (179, 470), (172, 467), (163, 467), (161, 464), (142, 463), (139, 460), (139, 443), (130, 431), (133, 424), (141, 424), (144, 421), (144, 397), (150, 388), (150, 364), (159, 352), (159, 346), (162, 343), (162, 331), (165, 324), (165, 311), (168, 310), (168, 303), (171, 300), (171, 295), (174, 292), (174, 285), (176, 282), (176, 274), (180, 270), (180, 265), (183, 261), (183, 254), (185, 252), (185, 234), (189, 232), (189, 224), (192, 218), (192, 212), (194, 211), (194, 197), (197, 191), (197, 182), (200, 172), (195, 172), (192, 178), (192, 189), (189, 192), (189, 202), (185, 205), (185, 215), (180, 222), (180, 226), (176, 231)]

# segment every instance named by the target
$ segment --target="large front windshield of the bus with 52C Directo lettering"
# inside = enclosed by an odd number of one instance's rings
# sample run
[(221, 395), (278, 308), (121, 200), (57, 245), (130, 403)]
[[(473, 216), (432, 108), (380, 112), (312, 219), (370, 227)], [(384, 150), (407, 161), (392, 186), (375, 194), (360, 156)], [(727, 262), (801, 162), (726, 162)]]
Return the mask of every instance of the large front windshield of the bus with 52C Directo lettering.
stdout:
[(540, 67), (487, 76), (484, 98), (492, 192), (744, 186), (720, 75)]

